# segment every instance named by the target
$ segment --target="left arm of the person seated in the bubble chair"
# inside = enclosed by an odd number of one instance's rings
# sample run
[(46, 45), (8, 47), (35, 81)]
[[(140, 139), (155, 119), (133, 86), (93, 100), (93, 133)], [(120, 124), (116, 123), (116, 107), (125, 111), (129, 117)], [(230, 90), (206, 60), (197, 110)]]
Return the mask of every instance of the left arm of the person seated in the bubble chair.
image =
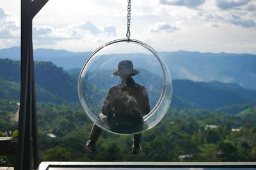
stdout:
[(114, 87), (111, 87), (108, 91), (108, 95), (101, 108), (102, 114), (108, 117), (109, 113), (111, 113), (111, 111), (113, 110), (114, 103), (115, 103), (115, 90), (114, 90)]

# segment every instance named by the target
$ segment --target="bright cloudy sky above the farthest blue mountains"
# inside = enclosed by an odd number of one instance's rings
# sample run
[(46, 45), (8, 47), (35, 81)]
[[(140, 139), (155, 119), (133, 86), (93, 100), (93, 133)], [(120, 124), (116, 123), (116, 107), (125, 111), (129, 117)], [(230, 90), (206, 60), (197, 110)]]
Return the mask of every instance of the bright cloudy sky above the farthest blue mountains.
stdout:
[[(132, 0), (131, 38), (157, 51), (256, 54), (255, 0)], [(127, 1), (49, 0), (34, 48), (95, 50), (126, 38)], [(0, 49), (20, 45), (20, 0), (0, 0)]]

